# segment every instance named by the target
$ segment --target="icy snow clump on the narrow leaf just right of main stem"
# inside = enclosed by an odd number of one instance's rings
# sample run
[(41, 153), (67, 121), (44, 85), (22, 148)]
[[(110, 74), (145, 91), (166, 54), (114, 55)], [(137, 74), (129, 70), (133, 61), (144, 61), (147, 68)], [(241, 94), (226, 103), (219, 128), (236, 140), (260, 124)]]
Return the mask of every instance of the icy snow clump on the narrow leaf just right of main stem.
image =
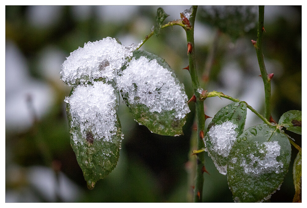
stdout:
[[(231, 121), (226, 121), (222, 124), (212, 126), (207, 133), (208, 136), (203, 139), (205, 144), (209, 140), (212, 144), (212, 146), (209, 145), (206, 147), (208, 155), (212, 157), (212, 154), (216, 153), (226, 158), (238, 136), (238, 133), (235, 131), (237, 127), (238, 125), (232, 123)], [(212, 160), (220, 173), (226, 175), (227, 164), (221, 165), (221, 160), (219, 158), (212, 157)]]

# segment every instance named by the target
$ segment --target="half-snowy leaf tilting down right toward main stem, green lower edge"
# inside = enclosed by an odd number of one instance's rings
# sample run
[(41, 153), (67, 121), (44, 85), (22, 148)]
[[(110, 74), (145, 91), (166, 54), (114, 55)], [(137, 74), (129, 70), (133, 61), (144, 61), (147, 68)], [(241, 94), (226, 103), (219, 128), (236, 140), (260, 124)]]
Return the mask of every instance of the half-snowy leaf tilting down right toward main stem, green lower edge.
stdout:
[(182, 134), (185, 116), (190, 112), (188, 97), (183, 84), (160, 57), (135, 51), (117, 78), (117, 87), (139, 124), (161, 135)]

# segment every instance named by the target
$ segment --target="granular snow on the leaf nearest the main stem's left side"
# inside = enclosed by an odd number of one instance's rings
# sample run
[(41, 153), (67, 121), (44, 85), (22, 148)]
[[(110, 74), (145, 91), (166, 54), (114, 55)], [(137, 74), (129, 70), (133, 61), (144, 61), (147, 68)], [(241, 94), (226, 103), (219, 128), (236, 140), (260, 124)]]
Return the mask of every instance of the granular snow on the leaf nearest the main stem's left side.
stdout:
[(172, 72), (158, 64), (156, 59), (141, 56), (133, 58), (129, 66), (117, 77), (118, 90), (128, 94), (132, 105), (144, 104), (150, 112), (175, 110), (181, 119), (190, 112), (183, 85), (176, 84)]

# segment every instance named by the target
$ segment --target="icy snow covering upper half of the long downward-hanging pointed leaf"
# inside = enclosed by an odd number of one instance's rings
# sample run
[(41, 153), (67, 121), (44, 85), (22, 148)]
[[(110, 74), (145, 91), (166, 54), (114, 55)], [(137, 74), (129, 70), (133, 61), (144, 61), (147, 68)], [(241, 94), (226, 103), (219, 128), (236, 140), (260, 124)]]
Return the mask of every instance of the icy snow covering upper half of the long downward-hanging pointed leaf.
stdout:
[[(92, 137), (92, 141), (111, 141), (116, 134), (117, 97), (114, 88), (102, 82), (93, 85), (78, 85), (65, 102), (70, 104), (71, 133), (75, 144), (83, 144), (84, 138)], [(80, 132), (78, 129), (80, 127)], [(83, 139), (82, 139), (83, 138)]]

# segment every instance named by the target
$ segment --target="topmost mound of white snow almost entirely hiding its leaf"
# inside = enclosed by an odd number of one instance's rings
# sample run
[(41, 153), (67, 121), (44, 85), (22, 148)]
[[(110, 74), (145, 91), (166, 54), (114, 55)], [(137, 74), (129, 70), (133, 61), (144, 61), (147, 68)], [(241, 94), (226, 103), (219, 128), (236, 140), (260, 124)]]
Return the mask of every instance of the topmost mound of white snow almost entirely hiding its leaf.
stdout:
[(62, 64), (61, 79), (68, 85), (82, 84), (104, 78), (114, 79), (127, 58), (132, 56), (129, 48), (120, 44), (115, 38), (88, 42), (83, 48), (70, 53)]

